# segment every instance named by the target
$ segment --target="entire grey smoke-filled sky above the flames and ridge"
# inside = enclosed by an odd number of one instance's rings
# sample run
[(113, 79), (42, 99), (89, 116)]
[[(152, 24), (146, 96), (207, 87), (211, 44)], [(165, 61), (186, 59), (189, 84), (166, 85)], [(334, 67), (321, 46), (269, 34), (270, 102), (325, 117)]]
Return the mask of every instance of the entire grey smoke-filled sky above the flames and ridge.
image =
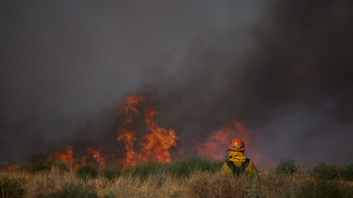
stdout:
[(1, 1), (0, 161), (105, 144), (116, 117), (101, 110), (145, 94), (184, 153), (237, 117), (266, 163), (352, 164), (352, 10), (349, 0)]

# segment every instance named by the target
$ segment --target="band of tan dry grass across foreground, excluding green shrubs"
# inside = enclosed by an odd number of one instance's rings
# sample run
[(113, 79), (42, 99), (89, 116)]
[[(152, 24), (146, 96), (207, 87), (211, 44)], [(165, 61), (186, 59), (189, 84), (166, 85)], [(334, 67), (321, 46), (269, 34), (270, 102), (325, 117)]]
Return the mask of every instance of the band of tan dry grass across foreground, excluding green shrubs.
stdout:
[[(233, 178), (220, 172), (196, 171), (189, 177), (177, 177), (167, 172), (151, 174), (148, 177), (122, 174), (108, 180), (99, 175), (97, 178), (83, 180), (75, 172), (62, 171), (52, 167), (50, 171), (1, 171), (0, 178), (23, 179), (24, 197), (36, 197), (39, 193), (52, 193), (62, 189), (66, 182), (91, 186), (100, 197), (119, 198), (237, 198), (253, 197), (295, 197), (295, 189), (313, 181), (310, 175), (295, 173), (281, 175), (261, 173), (260, 181), (247, 181), (245, 177)], [(253, 184), (258, 184), (253, 186)], [(352, 183), (345, 184), (353, 186)], [(251, 189), (251, 196), (249, 190)], [(1, 196), (1, 195), (0, 195)]]

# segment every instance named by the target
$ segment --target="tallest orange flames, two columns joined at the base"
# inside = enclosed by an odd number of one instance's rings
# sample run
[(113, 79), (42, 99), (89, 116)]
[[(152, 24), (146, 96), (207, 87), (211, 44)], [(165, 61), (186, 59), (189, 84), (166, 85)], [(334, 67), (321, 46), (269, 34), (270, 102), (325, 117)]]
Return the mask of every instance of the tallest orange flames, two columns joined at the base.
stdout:
[(135, 165), (138, 161), (145, 160), (147, 157), (153, 157), (160, 162), (170, 162), (169, 149), (176, 145), (177, 136), (174, 130), (167, 130), (155, 124), (152, 119), (156, 113), (153, 108), (149, 108), (145, 115), (146, 131), (150, 133), (145, 135), (139, 141), (142, 147), (140, 153), (133, 151), (136, 133), (131, 129), (133, 120), (139, 115), (138, 106), (141, 105), (144, 97), (127, 97), (127, 102), (121, 102), (119, 112), (124, 112), (128, 117), (118, 127), (119, 135), (117, 140), (125, 145), (126, 158), (123, 159), (123, 166)]

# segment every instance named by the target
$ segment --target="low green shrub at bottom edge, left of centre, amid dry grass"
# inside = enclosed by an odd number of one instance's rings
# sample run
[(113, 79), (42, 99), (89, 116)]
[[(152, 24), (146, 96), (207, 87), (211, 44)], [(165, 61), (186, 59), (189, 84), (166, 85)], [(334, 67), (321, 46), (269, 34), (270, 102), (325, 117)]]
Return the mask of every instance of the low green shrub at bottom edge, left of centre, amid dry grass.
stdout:
[(36, 198), (99, 198), (91, 186), (65, 183), (62, 190), (50, 194), (38, 194)]

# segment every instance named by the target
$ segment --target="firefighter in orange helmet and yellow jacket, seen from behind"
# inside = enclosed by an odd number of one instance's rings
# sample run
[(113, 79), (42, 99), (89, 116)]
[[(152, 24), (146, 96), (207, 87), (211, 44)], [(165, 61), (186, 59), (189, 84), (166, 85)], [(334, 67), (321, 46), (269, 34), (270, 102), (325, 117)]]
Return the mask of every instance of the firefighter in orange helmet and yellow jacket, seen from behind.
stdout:
[(247, 180), (259, 180), (254, 163), (245, 157), (244, 143), (235, 138), (228, 146), (229, 157), (222, 166), (222, 172), (239, 176), (246, 173)]

